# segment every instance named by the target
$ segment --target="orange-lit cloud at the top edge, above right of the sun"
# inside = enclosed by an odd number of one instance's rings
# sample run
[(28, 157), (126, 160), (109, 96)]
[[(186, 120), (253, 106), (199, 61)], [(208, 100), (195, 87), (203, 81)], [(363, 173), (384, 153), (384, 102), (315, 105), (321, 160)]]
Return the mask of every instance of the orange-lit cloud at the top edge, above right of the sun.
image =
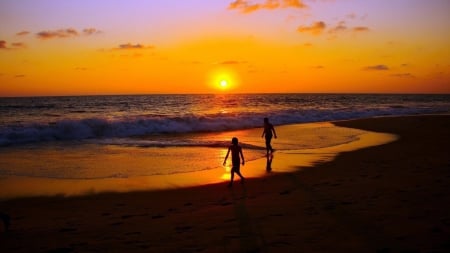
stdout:
[(229, 10), (238, 10), (241, 13), (251, 13), (258, 10), (275, 10), (280, 8), (306, 8), (302, 0), (265, 0), (251, 3), (247, 0), (235, 0), (228, 5)]

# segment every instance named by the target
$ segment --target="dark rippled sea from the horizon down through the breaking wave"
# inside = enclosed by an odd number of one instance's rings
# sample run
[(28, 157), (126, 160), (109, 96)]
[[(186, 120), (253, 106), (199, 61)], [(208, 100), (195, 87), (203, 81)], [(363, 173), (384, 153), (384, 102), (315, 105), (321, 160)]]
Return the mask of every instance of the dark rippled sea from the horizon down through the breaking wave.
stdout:
[(155, 94), (0, 98), (0, 147), (450, 112), (450, 94)]

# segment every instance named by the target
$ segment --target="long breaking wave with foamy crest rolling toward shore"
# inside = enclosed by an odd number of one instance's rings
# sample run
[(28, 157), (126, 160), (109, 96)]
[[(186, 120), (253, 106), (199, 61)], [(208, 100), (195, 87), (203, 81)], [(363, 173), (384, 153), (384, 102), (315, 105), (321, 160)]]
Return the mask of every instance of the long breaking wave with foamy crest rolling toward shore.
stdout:
[(220, 132), (262, 126), (262, 118), (270, 117), (275, 125), (323, 122), (376, 116), (412, 115), (448, 112), (436, 108), (343, 108), (343, 109), (290, 109), (268, 113), (234, 113), (212, 115), (186, 115), (163, 117), (143, 115), (133, 118), (109, 120), (86, 118), (60, 120), (50, 123), (28, 123), (0, 127), (0, 146), (73, 141), (105, 138), (128, 138), (146, 135), (167, 135), (199, 132)]

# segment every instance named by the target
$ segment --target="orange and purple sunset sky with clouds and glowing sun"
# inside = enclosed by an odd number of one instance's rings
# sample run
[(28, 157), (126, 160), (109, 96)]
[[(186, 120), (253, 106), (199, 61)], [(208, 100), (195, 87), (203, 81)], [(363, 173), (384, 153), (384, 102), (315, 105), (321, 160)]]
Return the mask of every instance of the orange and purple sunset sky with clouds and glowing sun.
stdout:
[(2, 0), (0, 96), (450, 93), (448, 0)]

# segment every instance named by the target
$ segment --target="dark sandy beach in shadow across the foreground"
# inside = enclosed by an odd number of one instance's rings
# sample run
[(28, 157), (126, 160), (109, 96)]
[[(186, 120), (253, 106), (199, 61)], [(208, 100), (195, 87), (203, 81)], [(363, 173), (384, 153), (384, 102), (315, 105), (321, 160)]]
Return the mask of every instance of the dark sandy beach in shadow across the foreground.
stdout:
[(5, 200), (0, 251), (450, 251), (450, 116), (333, 124), (399, 138), (288, 173), (275, 153), (273, 173), (232, 188)]

